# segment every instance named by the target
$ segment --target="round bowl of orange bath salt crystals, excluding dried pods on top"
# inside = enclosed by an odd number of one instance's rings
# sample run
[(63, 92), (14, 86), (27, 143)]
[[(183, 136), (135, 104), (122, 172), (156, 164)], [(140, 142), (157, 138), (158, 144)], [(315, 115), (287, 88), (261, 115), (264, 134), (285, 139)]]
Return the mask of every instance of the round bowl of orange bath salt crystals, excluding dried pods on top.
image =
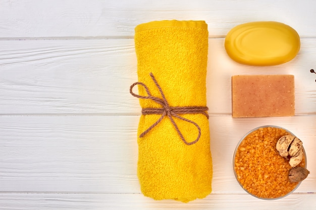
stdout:
[(282, 157), (276, 149), (283, 136), (295, 135), (285, 128), (266, 125), (250, 130), (238, 143), (233, 169), (238, 183), (249, 194), (261, 199), (279, 199), (300, 185), (301, 181), (293, 182), (289, 174), (293, 168), (306, 170), (305, 151), (301, 144), (303, 155), (292, 167), (289, 164), (291, 157)]

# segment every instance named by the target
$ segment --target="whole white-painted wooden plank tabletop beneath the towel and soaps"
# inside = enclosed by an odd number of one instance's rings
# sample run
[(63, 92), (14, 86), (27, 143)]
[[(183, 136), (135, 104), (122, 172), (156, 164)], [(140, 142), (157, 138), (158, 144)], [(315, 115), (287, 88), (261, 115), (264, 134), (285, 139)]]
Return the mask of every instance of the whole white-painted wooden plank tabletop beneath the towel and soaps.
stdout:
[[(316, 208), (316, 2), (313, 0), (0, 1), (0, 209)], [(136, 175), (138, 100), (134, 28), (154, 20), (205, 20), (213, 192), (189, 203), (143, 196)], [(301, 37), (288, 63), (231, 60), (225, 35), (278, 21)], [(232, 75), (293, 74), (294, 117), (233, 119)], [(254, 198), (237, 183), (232, 156), (260, 125), (295, 133), (310, 175), (291, 195)]]

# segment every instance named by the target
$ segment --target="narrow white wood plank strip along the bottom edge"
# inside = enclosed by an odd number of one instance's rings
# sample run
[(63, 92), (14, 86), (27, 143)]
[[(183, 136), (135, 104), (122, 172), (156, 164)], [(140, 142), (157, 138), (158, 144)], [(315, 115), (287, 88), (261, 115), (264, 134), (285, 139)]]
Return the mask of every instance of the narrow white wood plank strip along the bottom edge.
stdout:
[(247, 194), (210, 194), (189, 203), (174, 200), (155, 201), (142, 194), (72, 193), (0, 193), (1, 210), (142, 210), (142, 209), (287, 209), (310, 210), (316, 205), (315, 194), (292, 194), (279, 200), (261, 200)]

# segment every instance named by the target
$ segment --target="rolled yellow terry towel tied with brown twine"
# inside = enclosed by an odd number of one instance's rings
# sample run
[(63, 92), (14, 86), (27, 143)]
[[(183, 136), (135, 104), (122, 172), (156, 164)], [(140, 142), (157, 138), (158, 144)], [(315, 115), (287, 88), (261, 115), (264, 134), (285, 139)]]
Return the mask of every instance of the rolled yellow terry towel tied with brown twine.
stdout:
[(145, 196), (188, 202), (212, 191), (207, 49), (204, 21), (154, 21), (135, 28), (139, 82), (130, 92), (143, 108), (137, 173)]

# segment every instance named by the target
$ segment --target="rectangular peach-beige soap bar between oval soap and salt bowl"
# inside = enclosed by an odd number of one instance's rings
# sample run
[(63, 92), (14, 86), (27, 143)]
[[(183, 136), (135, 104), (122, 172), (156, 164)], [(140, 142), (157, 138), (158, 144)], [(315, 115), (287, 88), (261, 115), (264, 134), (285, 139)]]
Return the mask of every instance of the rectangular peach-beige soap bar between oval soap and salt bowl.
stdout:
[(295, 114), (293, 75), (232, 77), (233, 117), (274, 117)]

